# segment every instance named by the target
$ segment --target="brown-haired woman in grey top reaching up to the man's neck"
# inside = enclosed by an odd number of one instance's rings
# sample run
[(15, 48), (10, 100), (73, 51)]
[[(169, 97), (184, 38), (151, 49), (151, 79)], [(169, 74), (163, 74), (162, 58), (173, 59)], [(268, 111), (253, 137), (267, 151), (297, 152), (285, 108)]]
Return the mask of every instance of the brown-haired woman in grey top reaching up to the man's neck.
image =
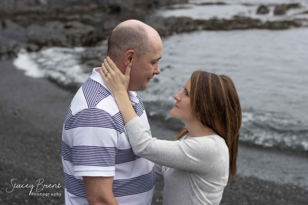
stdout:
[(134, 153), (154, 162), (164, 179), (163, 204), (219, 204), (237, 170), (241, 106), (233, 81), (226, 75), (195, 71), (174, 96), (170, 111), (185, 127), (175, 141), (157, 140), (128, 98), (130, 67), (124, 75), (107, 57), (101, 76), (119, 106)]

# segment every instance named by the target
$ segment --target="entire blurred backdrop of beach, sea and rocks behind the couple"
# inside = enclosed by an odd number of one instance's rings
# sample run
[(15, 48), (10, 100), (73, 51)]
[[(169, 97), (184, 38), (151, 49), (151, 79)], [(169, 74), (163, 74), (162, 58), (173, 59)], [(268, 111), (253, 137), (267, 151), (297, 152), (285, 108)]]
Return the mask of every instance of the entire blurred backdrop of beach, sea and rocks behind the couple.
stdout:
[[(183, 126), (169, 111), (194, 70), (227, 74), (243, 119), (238, 174), (221, 204), (306, 204), (308, 0), (1, 0), (0, 203), (64, 203), (63, 195), (6, 188), (11, 179), (44, 178), (63, 184), (44, 191), (63, 193), (66, 110), (100, 67), (111, 30), (127, 19), (163, 41), (161, 73), (139, 92), (152, 135), (172, 140)], [(158, 182), (154, 204), (162, 188)]]

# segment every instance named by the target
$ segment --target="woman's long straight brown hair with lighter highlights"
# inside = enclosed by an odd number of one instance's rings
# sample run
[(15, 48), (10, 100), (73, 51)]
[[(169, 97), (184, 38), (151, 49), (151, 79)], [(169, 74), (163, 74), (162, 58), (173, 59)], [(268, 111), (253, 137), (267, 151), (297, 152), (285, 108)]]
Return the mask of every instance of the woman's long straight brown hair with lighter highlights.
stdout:
[[(236, 158), (242, 112), (233, 81), (227, 75), (195, 71), (191, 76), (190, 107), (192, 115), (221, 136), (229, 148), (228, 183), (236, 175)], [(174, 138), (187, 135), (184, 127)]]

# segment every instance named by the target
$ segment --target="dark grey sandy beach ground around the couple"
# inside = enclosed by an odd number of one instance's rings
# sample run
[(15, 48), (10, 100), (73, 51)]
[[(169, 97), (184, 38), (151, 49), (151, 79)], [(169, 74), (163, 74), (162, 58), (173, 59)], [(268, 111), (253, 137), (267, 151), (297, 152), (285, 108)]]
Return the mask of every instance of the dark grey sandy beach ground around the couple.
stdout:
[[(0, 79), (0, 204), (63, 204), (60, 141), (74, 94), (45, 79), (24, 76), (10, 60), (0, 61)], [(150, 125), (158, 138), (174, 135), (158, 122)], [(307, 171), (306, 156), (241, 145), (238, 175), (225, 188), (221, 204), (306, 204)], [(16, 184), (44, 179), (44, 184), (61, 187), (41, 191), (49, 196), (34, 196), (29, 188), (12, 191), (12, 179)], [(163, 183), (157, 182), (154, 204), (161, 204), (162, 190)]]

